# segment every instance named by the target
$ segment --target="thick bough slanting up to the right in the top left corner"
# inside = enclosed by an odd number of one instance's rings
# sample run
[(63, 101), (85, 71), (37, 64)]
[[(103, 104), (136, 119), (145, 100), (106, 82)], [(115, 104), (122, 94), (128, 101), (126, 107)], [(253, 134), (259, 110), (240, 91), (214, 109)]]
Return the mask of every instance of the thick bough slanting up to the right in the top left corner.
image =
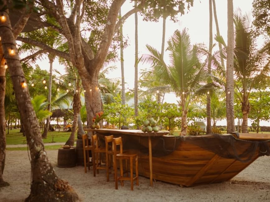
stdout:
[(17, 23), (12, 28), (12, 32), (13, 32), (15, 40), (17, 39), (17, 36), (21, 33), (24, 26), (26, 25), (30, 15), (31, 15), (32, 8), (34, 6), (34, 2), (35, 1), (28, 1), (27, 2), (28, 8), (24, 8), (24, 12), (23, 12), (22, 16), (20, 17), (20, 19), (17, 21)]

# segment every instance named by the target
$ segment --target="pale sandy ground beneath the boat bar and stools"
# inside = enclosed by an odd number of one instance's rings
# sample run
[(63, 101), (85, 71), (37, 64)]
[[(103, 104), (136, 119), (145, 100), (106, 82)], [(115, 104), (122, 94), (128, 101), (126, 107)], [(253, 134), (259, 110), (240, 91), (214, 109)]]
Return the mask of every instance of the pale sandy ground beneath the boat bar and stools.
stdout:
[[(270, 201), (270, 157), (260, 157), (231, 181), (196, 187), (180, 187), (161, 181), (149, 186), (149, 179), (139, 177), (139, 186), (130, 191), (130, 183), (114, 189), (106, 182), (105, 171), (93, 177), (92, 170), (58, 168), (58, 150), (48, 151), (57, 175), (69, 181), (83, 201)], [(30, 193), (30, 162), (27, 151), (7, 151), (3, 177), (10, 186), (0, 188), (0, 201), (23, 201)], [(112, 177), (111, 177), (112, 179)]]

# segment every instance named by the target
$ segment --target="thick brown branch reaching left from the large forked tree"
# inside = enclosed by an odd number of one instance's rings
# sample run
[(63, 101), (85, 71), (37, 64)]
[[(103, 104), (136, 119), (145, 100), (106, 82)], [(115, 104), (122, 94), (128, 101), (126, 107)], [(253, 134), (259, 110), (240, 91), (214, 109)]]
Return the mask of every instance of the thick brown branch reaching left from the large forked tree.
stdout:
[(53, 53), (54, 55), (56, 55), (58, 57), (63, 57), (66, 60), (69, 60), (70, 61), (70, 56), (69, 56), (68, 53), (64, 53), (62, 51), (55, 50), (54, 48), (51, 48), (50, 46), (48, 46), (46, 44), (43, 44), (43, 43), (41, 43), (39, 41), (35, 41), (35, 40), (29, 39), (29, 38), (24, 38), (24, 37), (21, 37), (21, 36), (18, 36), (17, 37), (17, 40), (18, 41), (21, 41), (23, 43), (32, 44), (34, 46), (38, 46), (40, 48), (47, 49), (47, 52), (48, 53)]

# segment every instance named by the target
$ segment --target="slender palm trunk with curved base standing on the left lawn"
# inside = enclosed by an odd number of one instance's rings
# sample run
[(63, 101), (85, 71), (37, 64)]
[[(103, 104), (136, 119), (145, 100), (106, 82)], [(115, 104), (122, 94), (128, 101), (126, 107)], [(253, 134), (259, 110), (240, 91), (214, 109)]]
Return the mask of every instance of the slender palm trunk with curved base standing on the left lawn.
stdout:
[[(49, 89), (48, 89), (48, 106), (47, 109), (51, 111), (51, 97), (52, 97), (52, 75), (53, 75), (53, 62), (54, 62), (54, 55), (49, 54), (49, 60), (50, 60), (50, 79), (49, 79)], [(46, 119), (46, 124), (44, 131), (42, 133), (42, 138), (46, 139), (48, 135), (48, 130), (49, 130), (49, 124), (50, 124), (50, 116), (47, 117)]]

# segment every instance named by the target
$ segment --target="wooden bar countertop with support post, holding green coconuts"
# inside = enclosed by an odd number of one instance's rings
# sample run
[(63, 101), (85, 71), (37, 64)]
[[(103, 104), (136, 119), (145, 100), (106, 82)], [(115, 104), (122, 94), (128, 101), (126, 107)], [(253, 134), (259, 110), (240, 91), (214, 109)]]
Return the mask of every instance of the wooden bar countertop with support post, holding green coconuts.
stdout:
[(143, 132), (141, 130), (113, 130), (113, 129), (84, 129), (84, 131), (90, 131), (92, 134), (96, 132), (97, 134), (106, 135), (136, 135), (142, 137), (148, 137), (148, 147), (149, 147), (149, 173), (150, 173), (150, 186), (153, 186), (153, 163), (152, 163), (152, 142), (151, 137), (158, 137), (167, 135), (169, 131), (158, 131), (158, 132)]

